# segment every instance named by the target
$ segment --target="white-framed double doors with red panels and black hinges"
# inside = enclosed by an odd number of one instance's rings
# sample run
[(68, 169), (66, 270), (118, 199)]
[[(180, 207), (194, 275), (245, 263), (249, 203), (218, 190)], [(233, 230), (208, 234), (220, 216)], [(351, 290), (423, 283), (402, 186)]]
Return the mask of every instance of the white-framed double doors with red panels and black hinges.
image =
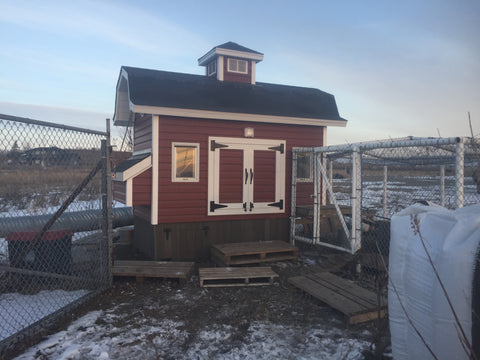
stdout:
[(210, 137), (208, 214), (285, 212), (284, 140)]

